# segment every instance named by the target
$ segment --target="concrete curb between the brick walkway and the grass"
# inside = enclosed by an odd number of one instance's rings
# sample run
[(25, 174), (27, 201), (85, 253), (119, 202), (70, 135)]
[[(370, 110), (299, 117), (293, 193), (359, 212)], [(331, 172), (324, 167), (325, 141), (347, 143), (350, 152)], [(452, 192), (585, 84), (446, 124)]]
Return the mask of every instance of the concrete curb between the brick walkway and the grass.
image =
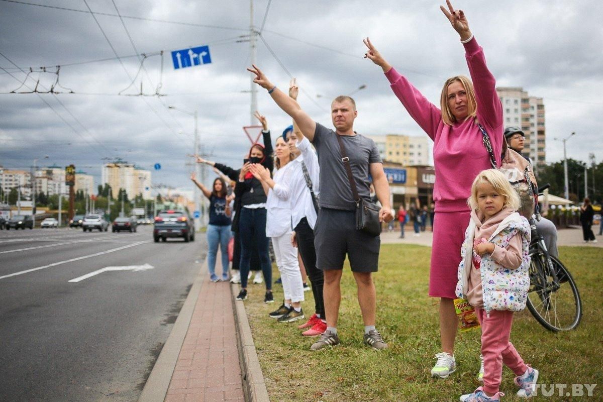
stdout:
[(243, 380), (243, 390), (246, 402), (270, 402), (268, 389), (264, 381), (264, 374), (260, 368), (260, 361), (257, 357), (256, 346), (251, 336), (251, 328), (245, 312), (245, 304), (236, 300), (239, 292), (239, 286), (230, 285), (232, 293), (233, 310), (235, 310), (235, 321), (237, 328), (237, 337), (239, 340), (239, 360), (241, 361), (241, 372)]

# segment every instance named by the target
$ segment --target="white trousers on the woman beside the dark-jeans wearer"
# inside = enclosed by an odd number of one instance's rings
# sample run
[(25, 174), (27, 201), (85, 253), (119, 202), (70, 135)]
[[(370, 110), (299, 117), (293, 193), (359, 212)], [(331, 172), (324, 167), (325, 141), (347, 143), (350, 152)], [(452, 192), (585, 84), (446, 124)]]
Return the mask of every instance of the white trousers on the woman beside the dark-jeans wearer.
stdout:
[(276, 254), (276, 265), (279, 268), (280, 278), (285, 292), (285, 300), (292, 303), (303, 301), (303, 283), (297, 260), (297, 248), (291, 245), (291, 232), (279, 237), (271, 237), (274, 254)]

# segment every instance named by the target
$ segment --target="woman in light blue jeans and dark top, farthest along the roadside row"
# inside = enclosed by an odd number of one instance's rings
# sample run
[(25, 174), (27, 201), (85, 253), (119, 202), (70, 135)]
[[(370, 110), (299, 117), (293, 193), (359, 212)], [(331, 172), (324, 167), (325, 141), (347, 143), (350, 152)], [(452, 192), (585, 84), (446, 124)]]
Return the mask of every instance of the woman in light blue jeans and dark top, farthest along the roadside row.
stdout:
[(203, 195), (209, 199), (209, 224), (207, 225), (207, 269), (212, 282), (220, 280), (216, 275), (216, 257), (218, 256), (218, 245), (222, 253), (222, 280), (228, 278), (228, 243), (231, 236), (230, 231), (230, 202), (232, 195), (226, 194), (226, 183), (223, 178), (216, 177), (213, 181), (212, 191), (197, 181), (195, 174), (191, 174), (191, 180), (199, 187)]

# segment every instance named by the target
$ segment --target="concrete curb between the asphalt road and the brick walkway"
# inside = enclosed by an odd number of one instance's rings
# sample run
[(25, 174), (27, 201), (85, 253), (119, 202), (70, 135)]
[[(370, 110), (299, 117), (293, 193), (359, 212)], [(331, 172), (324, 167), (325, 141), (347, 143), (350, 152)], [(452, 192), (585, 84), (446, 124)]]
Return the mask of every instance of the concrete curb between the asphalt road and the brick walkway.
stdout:
[(197, 299), (203, 287), (203, 280), (207, 272), (207, 259), (201, 264), (201, 269), (197, 278), (191, 287), (191, 291), (186, 297), (185, 303), (178, 314), (168, 340), (163, 345), (161, 353), (153, 366), (145, 387), (140, 393), (138, 402), (163, 402), (168, 393), (169, 383), (174, 374), (174, 368), (180, 356), (180, 350), (186, 337), (189, 325), (191, 324), (192, 314), (197, 305)]

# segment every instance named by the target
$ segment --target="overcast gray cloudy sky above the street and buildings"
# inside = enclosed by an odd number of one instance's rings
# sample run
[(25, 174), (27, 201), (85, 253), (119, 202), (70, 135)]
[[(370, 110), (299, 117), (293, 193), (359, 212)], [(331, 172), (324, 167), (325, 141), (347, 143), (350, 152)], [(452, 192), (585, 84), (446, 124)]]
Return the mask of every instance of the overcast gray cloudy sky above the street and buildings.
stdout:
[[(0, 53), (10, 59), (0, 56), (5, 69), (0, 69), (0, 165), (26, 168), (48, 155), (38, 164), (75, 163), (99, 184), (103, 159), (121, 157), (150, 170), (160, 163), (154, 184), (190, 190), (186, 154), (194, 148), (194, 119), (168, 105), (198, 111), (200, 142), (212, 152), (210, 159), (241, 165), (250, 145), (242, 126), (251, 123), (250, 74), (245, 71), (250, 51), (249, 43), (241, 42), (250, 25), (248, 1), (26, 2), (86, 12), (0, 0)], [(330, 100), (366, 85), (353, 95), (359, 111), (356, 131), (425, 135), (380, 68), (362, 58), (365, 36), (435, 104), (446, 78), (468, 75), (458, 34), (437, 1), (258, 0), (253, 5), (253, 24), (259, 30), (264, 23), (262, 37), (280, 60), (259, 40), (257, 64), (285, 90), (285, 69), (297, 77), (301, 106), (327, 126)], [(465, 0), (453, 5), (466, 12), (497, 86), (523, 87), (544, 98), (547, 162), (563, 158), (563, 146), (554, 137), (572, 131), (576, 136), (567, 141), (568, 157), (586, 161), (594, 152), (601, 162), (603, 4)], [(99, 28), (87, 6), (112, 15), (95, 14)], [(127, 32), (137, 52), (149, 55), (144, 69)], [(201, 45), (209, 45), (211, 64), (174, 69), (171, 51)], [(162, 58), (153, 55), (162, 50), (163, 74)], [(111, 60), (82, 63), (100, 59)], [(7, 94), (33, 90), (38, 80), (38, 90), (48, 90), (57, 76), (40, 74), (39, 67), (54, 72), (57, 65), (62, 87), (55, 90), (75, 94)], [(34, 72), (21, 86), (30, 67)], [(161, 83), (165, 96), (123, 96), (139, 93), (141, 81), (145, 94), (155, 93)], [(258, 89), (258, 108), (273, 133), (280, 133), (290, 121)]]

